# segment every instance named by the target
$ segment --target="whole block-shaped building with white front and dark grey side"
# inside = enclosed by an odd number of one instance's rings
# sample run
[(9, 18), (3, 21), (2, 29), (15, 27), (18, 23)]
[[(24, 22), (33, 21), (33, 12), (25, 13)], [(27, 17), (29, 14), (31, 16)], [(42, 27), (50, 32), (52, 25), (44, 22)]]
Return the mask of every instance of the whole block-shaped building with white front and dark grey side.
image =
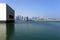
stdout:
[(14, 22), (14, 10), (6, 3), (0, 3), (0, 22)]

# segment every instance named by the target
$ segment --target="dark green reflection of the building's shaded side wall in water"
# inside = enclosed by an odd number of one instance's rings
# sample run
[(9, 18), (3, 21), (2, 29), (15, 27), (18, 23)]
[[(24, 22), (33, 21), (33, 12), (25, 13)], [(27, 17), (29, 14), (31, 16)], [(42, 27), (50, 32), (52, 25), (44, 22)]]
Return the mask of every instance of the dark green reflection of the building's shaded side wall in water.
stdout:
[(7, 40), (10, 40), (11, 36), (14, 34), (14, 23), (6, 23)]

